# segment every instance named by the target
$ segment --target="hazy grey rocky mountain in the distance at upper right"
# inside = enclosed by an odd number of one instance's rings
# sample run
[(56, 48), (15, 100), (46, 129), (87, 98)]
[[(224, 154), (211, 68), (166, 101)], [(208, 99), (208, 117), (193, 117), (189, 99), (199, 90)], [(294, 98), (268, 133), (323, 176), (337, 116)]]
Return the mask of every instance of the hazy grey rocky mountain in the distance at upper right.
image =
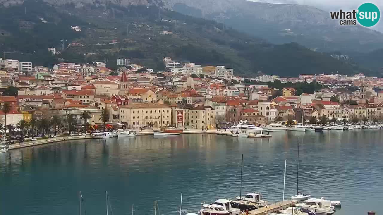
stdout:
[(297, 42), (320, 51), (368, 52), (383, 48), (383, 34), (362, 26), (341, 26), (329, 12), (306, 5), (246, 0), (163, 0), (185, 15), (225, 23), (276, 44)]

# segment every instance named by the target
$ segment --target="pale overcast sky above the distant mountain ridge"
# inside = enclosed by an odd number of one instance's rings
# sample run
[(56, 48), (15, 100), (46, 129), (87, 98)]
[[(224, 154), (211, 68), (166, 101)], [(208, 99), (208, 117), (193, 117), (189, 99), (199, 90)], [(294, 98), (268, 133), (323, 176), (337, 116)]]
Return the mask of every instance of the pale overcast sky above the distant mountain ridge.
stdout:
[(383, 0), (251, 0), (253, 2), (267, 2), (277, 4), (298, 4), (311, 5), (324, 11), (353, 10), (358, 9), (359, 5), (370, 2), (379, 7), (381, 18), (373, 29), (383, 33)]

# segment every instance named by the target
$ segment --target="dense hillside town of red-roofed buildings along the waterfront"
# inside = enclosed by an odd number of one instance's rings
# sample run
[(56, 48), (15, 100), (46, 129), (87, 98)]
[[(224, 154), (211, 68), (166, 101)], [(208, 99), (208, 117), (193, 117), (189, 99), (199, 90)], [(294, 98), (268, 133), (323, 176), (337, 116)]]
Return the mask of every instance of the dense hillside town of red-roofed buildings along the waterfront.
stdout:
[(105, 62), (47, 68), (0, 59), (0, 122), (10, 133), (56, 135), (115, 125), (218, 129), (241, 120), (259, 127), (288, 120), (383, 120), (383, 78), (336, 71), (247, 78), (224, 65), (202, 67), (169, 57), (163, 63), (166, 71), (154, 73), (131, 59), (117, 59), (118, 70)]

